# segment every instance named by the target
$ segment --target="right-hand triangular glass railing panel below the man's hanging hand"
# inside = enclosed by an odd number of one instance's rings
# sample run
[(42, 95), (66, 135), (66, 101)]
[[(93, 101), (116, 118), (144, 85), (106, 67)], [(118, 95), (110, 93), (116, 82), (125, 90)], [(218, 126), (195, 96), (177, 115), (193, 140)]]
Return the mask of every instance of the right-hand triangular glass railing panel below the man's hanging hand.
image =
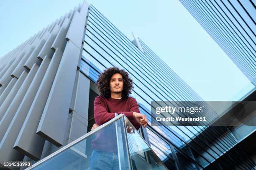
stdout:
[(143, 140), (141, 135), (134, 130), (135, 128), (126, 117), (125, 125), (127, 128), (133, 129), (130, 133), (127, 133), (132, 169), (166, 170), (161, 160), (156, 156), (145, 140)]

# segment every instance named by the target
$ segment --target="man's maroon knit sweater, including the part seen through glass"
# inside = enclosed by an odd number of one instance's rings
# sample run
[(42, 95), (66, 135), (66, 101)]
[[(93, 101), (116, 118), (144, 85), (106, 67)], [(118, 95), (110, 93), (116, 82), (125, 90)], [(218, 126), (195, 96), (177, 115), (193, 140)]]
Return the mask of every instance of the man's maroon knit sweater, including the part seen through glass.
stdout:
[[(115, 117), (115, 112), (119, 115), (123, 113), (138, 130), (140, 124), (133, 118), (133, 112), (140, 112), (136, 99), (133, 97), (113, 99), (105, 98), (100, 95), (94, 100), (94, 118), (97, 125), (102, 125)], [(113, 128), (105, 128), (96, 134), (96, 138), (92, 140), (92, 148), (105, 152), (117, 153), (115, 126)]]

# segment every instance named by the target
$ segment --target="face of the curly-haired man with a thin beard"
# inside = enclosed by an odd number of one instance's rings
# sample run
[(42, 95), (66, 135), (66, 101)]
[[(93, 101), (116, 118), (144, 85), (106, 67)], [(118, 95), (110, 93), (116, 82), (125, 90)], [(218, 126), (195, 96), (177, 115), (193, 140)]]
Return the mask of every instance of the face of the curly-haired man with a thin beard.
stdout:
[(110, 82), (110, 92), (120, 93), (123, 91), (123, 76), (119, 73), (115, 73), (112, 75)]

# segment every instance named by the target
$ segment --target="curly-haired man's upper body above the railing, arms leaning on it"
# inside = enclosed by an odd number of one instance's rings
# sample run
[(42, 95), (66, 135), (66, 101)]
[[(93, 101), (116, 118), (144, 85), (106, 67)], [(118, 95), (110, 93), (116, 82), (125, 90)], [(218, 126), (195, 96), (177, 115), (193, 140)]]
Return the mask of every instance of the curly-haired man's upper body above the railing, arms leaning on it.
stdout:
[(99, 125), (108, 122), (123, 113), (138, 130), (140, 125), (144, 128), (148, 124), (146, 115), (142, 115), (138, 109), (136, 99), (129, 97), (133, 88), (133, 80), (129, 78), (128, 72), (111, 67), (100, 75), (97, 80), (100, 96), (94, 100), (94, 117), (96, 124), (92, 130)]

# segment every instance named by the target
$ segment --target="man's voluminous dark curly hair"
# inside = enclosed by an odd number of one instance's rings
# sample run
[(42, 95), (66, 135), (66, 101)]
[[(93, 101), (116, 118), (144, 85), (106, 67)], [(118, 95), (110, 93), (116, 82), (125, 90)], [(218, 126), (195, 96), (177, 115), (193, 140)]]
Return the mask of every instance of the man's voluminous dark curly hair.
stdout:
[(120, 70), (118, 67), (110, 67), (105, 69), (100, 75), (95, 83), (100, 91), (100, 95), (108, 98), (110, 97), (110, 79), (112, 75), (119, 73), (123, 76), (123, 91), (122, 98), (128, 98), (129, 94), (133, 89), (133, 80), (129, 77), (128, 72), (125, 70)]

